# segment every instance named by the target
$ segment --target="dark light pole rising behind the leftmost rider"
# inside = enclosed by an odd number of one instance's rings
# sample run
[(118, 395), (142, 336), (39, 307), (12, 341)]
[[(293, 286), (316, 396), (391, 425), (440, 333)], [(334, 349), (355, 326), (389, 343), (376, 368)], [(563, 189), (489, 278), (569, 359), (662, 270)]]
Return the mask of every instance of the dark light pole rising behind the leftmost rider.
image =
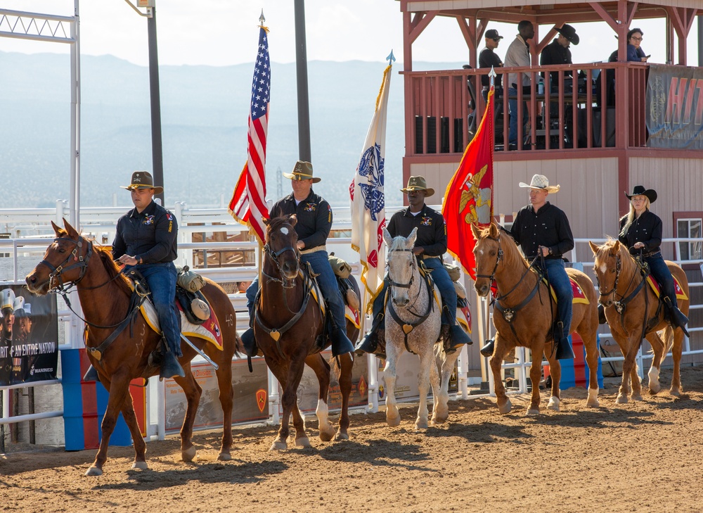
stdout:
[[(156, 0), (137, 0), (139, 7), (146, 8), (146, 14), (139, 11), (129, 0), (124, 0), (140, 16), (148, 18), (149, 39), (149, 86), (151, 99), (151, 162), (154, 185), (164, 186), (164, 152), (161, 137), (161, 94), (159, 89), (159, 56), (156, 43)], [(164, 205), (164, 193), (155, 195)]]

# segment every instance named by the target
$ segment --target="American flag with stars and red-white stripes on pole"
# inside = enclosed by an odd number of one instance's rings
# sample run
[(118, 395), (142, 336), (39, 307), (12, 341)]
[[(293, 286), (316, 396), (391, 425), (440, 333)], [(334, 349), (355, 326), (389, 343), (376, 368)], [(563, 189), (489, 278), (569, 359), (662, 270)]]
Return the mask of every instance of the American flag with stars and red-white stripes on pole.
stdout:
[(266, 229), (262, 217), (269, 218), (266, 205), (266, 132), (269, 128), (269, 100), (271, 99), (271, 62), (269, 61), (269, 29), (259, 30), (259, 50), (254, 66), (252, 103), (249, 111), (249, 147), (232, 200), (229, 213), (250, 228), (263, 245)]

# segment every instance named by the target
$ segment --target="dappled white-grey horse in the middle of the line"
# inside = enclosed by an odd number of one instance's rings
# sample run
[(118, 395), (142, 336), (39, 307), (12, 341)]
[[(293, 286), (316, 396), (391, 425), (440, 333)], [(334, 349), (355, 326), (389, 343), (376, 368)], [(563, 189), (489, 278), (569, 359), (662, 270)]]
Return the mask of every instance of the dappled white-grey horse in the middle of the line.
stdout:
[(420, 274), (418, 259), (413, 254), (418, 229), (413, 228), (410, 236), (391, 237), (383, 229), (383, 239), (388, 248), (388, 293), (386, 302), (386, 366), (383, 370), (386, 382), (386, 422), (389, 426), (400, 424), (400, 414), (396, 405), (395, 382), (396, 364), (405, 350), (420, 357), (418, 391), (420, 407), (415, 429), (427, 428), (427, 392), (432, 385), (434, 407), (432, 424), (439, 424), (449, 417), (449, 376), (459, 352), (446, 355), (438, 345), (437, 355), (441, 357), (441, 384), (437, 373), (437, 360), (434, 346), (441, 330), (441, 299), (435, 285), (430, 291)]

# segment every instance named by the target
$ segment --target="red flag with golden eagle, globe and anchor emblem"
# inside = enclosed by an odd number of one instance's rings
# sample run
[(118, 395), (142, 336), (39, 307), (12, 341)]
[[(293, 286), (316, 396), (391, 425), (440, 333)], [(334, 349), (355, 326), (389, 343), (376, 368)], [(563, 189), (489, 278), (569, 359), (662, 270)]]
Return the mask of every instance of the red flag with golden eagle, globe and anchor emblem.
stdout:
[(493, 96), (491, 87), (481, 125), (446, 187), (441, 208), (447, 250), (472, 279), (476, 279), (476, 260), (471, 225), (483, 227), (493, 218)]

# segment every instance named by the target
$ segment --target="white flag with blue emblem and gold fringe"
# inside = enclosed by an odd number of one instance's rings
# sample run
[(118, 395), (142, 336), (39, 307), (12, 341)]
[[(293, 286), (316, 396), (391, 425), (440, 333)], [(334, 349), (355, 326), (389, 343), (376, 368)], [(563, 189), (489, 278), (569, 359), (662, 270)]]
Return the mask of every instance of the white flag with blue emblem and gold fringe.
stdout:
[(381, 90), (361, 150), (359, 165), (356, 167), (354, 182), (349, 186), (352, 200), (352, 248), (359, 252), (363, 267), (361, 281), (370, 293), (370, 301), (373, 301), (383, 285), (386, 261), (383, 245), (383, 228), (386, 225), (383, 183), (391, 68), (392, 65), (388, 65), (383, 72)]

